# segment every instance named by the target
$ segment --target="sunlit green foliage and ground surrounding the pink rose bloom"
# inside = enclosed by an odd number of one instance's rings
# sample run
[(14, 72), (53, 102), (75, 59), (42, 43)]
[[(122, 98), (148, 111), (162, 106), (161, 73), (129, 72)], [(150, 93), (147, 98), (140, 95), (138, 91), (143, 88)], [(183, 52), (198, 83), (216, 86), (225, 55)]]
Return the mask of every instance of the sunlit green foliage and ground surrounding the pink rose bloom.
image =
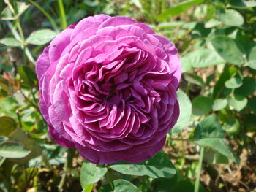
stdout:
[[(256, 1), (0, 1), (0, 191), (256, 191)], [(163, 152), (95, 166), (56, 145), (34, 63), (69, 24), (129, 16), (178, 47), (181, 115)]]

